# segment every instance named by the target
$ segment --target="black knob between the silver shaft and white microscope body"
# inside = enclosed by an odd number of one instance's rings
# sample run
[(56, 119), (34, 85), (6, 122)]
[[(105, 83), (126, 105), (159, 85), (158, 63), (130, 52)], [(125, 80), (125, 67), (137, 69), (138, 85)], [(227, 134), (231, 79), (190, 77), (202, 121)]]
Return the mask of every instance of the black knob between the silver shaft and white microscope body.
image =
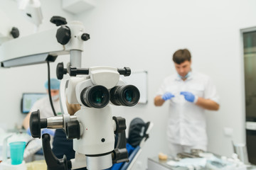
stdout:
[(78, 120), (66, 123), (66, 132), (68, 139), (80, 139), (80, 125)]

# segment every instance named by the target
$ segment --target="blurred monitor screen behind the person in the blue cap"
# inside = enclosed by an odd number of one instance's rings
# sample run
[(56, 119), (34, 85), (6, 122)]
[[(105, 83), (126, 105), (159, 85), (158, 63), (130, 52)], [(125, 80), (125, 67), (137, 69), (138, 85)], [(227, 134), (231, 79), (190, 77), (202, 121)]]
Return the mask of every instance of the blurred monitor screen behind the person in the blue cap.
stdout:
[(33, 103), (47, 95), (46, 93), (23, 93), (21, 99), (21, 113), (28, 113)]

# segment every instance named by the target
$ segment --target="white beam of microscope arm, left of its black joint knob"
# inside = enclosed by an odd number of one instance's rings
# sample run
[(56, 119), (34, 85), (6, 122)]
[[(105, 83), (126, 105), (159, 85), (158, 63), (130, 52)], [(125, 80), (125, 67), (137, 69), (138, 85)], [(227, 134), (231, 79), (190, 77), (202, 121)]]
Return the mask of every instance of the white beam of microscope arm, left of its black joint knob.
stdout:
[(64, 51), (63, 45), (56, 43), (56, 30), (54, 28), (4, 42), (0, 46), (1, 67), (39, 64), (47, 60), (55, 61), (60, 52)]

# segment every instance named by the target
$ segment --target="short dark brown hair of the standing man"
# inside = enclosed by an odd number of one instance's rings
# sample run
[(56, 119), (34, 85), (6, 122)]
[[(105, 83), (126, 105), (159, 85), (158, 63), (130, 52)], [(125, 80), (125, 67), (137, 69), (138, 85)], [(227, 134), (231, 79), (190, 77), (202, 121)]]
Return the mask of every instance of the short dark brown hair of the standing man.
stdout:
[(176, 64), (181, 64), (185, 61), (191, 62), (191, 53), (188, 49), (181, 49), (174, 52), (173, 61)]

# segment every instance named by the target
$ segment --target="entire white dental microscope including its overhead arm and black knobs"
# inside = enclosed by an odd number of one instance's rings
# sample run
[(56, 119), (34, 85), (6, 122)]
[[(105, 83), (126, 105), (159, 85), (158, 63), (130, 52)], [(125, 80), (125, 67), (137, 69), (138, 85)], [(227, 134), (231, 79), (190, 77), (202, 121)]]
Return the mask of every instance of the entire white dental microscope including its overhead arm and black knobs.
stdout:
[[(125, 137), (125, 119), (112, 116), (112, 106), (135, 106), (139, 101), (136, 86), (125, 84), (120, 75), (131, 74), (129, 67), (81, 68), (84, 42), (90, 39), (79, 21), (68, 24), (65, 18), (50, 19), (58, 28), (15, 38), (0, 45), (1, 67), (19, 67), (54, 62), (58, 55), (70, 55), (70, 64), (57, 66), (60, 81), (60, 106), (63, 115), (40, 117), (40, 111), (31, 113), (32, 137), (41, 138), (42, 128), (63, 129), (73, 139), (75, 159), (57, 159), (50, 148), (50, 135), (43, 134), (43, 154), (48, 170), (107, 169), (112, 164), (128, 162)], [(36, 45), (34, 45), (36, 42)], [(14, 46), (23, 48), (13, 50)], [(33, 48), (31, 48), (33, 47)], [(63, 79), (69, 74), (68, 79)], [(80, 104), (74, 115), (68, 113), (66, 102)], [(118, 136), (118, 137), (117, 137)], [(117, 139), (117, 141), (115, 141)]]

